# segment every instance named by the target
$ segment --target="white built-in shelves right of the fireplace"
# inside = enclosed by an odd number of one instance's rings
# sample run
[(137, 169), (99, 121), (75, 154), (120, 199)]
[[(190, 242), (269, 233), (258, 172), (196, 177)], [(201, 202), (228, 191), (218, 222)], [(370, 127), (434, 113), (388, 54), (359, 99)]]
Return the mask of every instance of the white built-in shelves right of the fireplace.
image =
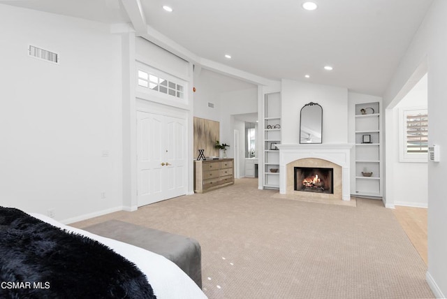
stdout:
[[(382, 196), (382, 134), (380, 103), (356, 103), (355, 184), (357, 196)], [(362, 172), (372, 172), (370, 177)]]

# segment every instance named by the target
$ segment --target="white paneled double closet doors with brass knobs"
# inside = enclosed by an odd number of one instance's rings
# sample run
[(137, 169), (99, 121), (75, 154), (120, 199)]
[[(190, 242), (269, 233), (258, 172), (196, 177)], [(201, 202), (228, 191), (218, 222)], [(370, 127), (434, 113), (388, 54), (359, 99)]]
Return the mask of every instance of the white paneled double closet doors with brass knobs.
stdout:
[(186, 121), (137, 112), (138, 206), (186, 194)]

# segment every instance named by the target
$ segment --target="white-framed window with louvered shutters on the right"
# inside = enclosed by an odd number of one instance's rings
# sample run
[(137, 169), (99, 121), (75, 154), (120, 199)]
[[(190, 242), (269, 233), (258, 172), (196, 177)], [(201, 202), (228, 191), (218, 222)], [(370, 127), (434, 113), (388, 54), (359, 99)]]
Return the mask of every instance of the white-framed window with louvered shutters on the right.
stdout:
[(427, 109), (402, 110), (401, 161), (427, 161), (428, 112)]

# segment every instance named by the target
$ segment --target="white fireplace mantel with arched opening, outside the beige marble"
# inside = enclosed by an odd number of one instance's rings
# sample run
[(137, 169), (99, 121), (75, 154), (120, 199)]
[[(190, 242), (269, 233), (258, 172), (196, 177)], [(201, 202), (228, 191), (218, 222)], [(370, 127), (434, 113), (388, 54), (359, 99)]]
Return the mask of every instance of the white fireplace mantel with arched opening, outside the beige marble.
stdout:
[(342, 199), (351, 200), (351, 149), (349, 143), (286, 144), (279, 149), (279, 193), (286, 194), (286, 166), (295, 160), (316, 158), (342, 167)]

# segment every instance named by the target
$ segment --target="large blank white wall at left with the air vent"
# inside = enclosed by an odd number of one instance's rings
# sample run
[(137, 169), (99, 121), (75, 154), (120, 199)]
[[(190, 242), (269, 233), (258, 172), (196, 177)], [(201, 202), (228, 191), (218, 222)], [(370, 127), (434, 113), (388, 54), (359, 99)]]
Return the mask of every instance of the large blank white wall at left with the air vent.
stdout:
[[(0, 205), (54, 209), (56, 219), (120, 210), (120, 36), (4, 5), (0, 35)], [(60, 64), (28, 57), (29, 44), (58, 52)]]

